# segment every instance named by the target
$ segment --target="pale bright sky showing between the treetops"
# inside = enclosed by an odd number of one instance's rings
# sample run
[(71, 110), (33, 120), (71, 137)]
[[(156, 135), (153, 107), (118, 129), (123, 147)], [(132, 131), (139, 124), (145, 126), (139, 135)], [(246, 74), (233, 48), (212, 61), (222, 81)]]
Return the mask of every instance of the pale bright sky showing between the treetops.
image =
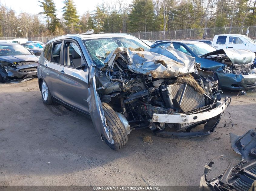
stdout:
[[(57, 17), (60, 18), (62, 10), (59, 10), (64, 7), (62, 3), (63, 0), (53, 0), (55, 2), (57, 11)], [(107, 0), (111, 1), (111, 0)], [(106, 0), (104, 2), (107, 2)], [(114, 0), (113, 0), (114, 1)], [(101, 4), (102, 0), (74, 0), (76, 8), (78, 10), (78, 14), (82, 15), (87, 10), (94, 11), (95, 6), (97, 4)], [(127, 3), (131, 3), (132, 0), (126, 0)], [(21, 11), (28, 12), (31, 14), (38, 14), (42, 11), (42, 8), (38, 5), (40, 4), (38, 0), (0, 0), (0, 3), (6, 5), (7, 7), (11, 7), (15, 10), (16, 14), (18, 15)]]

